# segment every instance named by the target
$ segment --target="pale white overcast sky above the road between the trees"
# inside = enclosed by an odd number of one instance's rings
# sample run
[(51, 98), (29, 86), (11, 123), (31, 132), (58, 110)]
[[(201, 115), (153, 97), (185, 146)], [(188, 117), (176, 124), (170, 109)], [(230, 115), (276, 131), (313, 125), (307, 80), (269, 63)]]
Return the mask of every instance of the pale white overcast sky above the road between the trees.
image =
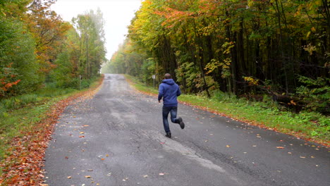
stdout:
[(51, 9), (63, 20), (71, 21), (85, 11), (97, 11), (99, 7), (105, 21), (106, 58), (110, 59), (128, 34), (128, 25), (140, 8), (142, 0), (57, 0)]

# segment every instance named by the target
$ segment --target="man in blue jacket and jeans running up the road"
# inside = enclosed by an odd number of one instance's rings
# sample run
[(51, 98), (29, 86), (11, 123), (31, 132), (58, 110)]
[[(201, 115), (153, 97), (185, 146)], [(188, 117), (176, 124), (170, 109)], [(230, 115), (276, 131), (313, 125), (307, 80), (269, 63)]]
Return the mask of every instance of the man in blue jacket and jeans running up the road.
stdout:
[(178, 123), (180, 127), (185, 128), (185, 123), (181, 117), (176, 118), (178, 112), (178, 96), (181, 95), (180, 87), (172, 79), (169, 73), (166, 73), (164, 80), (159, 85), (158, 102), (163, 98), (163, 125), (166, 132), (166, 137), (171, 137), (171, 130), (169, 129), (169, 120), (167, 120), (169, 113), (171, 113), (172, 123)]

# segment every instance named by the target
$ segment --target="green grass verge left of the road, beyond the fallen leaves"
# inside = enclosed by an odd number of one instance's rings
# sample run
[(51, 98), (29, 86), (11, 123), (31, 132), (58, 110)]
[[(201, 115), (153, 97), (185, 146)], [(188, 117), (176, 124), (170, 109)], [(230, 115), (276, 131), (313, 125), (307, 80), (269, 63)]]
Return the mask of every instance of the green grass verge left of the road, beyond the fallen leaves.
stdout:
[[(99, 78), (94, 80), (90, 85), (91, 88), (97, 86), (97, 80)], [(87, 89), (56, 89), (53, 86), (46, 86), (32, 94), (1, 100), (0, 163), (4, 163), (6, 157), (12, 156), (11, 146), (14, 139), (23, 138), (27, 133), (33, 133), (35, 126), (49, 117), (47, 113), (51, 106), (75, 94), (85, 92)], [(0, 167), (0, 175), (3, 175), (3, 170)]]

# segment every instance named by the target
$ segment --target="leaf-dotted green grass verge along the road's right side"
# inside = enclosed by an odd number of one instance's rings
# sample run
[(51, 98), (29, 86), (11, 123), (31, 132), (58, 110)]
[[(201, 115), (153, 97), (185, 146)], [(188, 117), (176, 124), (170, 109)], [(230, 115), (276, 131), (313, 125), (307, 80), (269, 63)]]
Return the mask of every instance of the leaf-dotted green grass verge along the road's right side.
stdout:
[[(132, 77), (126, 75), (133, 87), (140, 92), (158, 94), (157, 88), (147, 87)], [(182, 94), (178, 101), (195, 106), (222, 116), (241, 120), (250, 125), (257, 125), (268, 130), (275, 130), (311, 142), (330, 146), (330, 117), (320, 113), (302, 111), (293, 113), (281, 108), (279, 104), (267, 98), (266, 101), (248, 101), (238, 99), (223, 92), (216, 92), (211, 99), (196, 95)]]

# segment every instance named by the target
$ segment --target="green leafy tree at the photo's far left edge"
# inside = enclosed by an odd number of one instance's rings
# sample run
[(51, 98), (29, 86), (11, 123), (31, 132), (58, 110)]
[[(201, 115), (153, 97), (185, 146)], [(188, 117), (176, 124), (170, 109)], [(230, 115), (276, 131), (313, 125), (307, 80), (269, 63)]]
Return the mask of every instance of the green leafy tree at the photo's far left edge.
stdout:
[(37, 89), (43, 79), (38, 73), (32, 36), (26, 32), (23, 23), (10, 18), (0, 20), (0, 30), (0, 72), (10, 75), (12, 81), (20, 80), (2, 96), (10, 97)]

